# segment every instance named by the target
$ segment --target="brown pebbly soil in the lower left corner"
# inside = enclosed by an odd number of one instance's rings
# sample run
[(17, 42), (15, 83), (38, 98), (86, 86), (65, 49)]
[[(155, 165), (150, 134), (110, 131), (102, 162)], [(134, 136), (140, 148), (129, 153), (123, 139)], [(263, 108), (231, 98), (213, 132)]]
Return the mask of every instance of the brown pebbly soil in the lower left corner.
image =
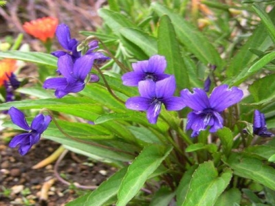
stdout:
[[(58, 144), (42, 139), (27, 155), (0, 141), (0, 205), (47, 205), (58, 206), (72, 201), (87, 190), (65, 185), (54, 175), (54, 163), (34, 170), (32, 166), (45, 159), (58, 148)], [(68, 152), (58, 165), (58, 174), (70, 183), (99, 185), (113, 174), (115, 168), (91, 161), (87, 157)], [(41, 188), (47, 181), (54, 184), (46, 193), (47, 201), (41, 200)]]

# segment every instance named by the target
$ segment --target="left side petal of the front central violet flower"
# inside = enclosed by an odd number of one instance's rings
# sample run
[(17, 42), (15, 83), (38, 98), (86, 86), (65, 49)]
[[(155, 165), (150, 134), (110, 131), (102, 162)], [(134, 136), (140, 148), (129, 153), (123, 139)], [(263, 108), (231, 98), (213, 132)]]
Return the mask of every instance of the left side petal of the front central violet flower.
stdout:
[(133, 97), (129, 98), (125, 102), (126, 108), (135, 110), (135, 111), (146, 111), (151, 105), (152, 100), (149, 98), (142, 97)]

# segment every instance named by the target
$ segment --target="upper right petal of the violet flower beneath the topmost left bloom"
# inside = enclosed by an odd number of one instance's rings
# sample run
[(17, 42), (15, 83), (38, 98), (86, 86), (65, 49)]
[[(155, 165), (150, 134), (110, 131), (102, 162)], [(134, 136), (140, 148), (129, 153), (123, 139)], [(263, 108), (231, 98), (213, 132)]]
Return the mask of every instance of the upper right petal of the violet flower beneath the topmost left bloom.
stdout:
[(94, 64), (94, 57), (91, 55), (85, 55), (76, 60), (74, 63), (74, 75), (78, 80), (84, 81), (88, 73), (91, 71), (91, 67)]

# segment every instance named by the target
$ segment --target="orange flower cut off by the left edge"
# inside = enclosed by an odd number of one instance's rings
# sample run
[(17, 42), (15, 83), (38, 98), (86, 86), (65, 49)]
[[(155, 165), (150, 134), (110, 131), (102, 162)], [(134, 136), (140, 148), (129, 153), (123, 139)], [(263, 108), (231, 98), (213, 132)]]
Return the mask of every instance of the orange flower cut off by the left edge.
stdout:
[(17, 70), (17, 60), (4, 58), (0, 60), (0, 87), (4, 84), (4, 80), (8, 80), (8, 76)]

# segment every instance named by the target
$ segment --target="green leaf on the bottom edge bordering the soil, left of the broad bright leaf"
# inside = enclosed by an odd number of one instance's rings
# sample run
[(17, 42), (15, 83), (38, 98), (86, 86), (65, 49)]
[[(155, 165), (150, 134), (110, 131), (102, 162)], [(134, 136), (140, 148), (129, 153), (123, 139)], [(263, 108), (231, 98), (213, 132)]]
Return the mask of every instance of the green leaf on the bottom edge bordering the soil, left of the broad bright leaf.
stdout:
[(80, 196), (76, 200), (69, 202), (66, 206), (100, 206), (104, 205), (118, 193), (122, 178), (126, 174), (127, 168), (115, 172), (107, 181), (104, 181), (93, 192)]

